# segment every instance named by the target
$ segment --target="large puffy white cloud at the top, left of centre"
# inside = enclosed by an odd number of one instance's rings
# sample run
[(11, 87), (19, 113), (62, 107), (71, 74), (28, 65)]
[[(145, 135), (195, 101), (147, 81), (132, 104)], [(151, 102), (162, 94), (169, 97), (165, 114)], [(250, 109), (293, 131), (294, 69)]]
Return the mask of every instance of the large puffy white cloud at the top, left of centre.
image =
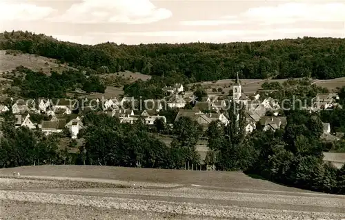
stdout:
[(50, 21), (70, 23), (152, 23), (172, 16), (149, 0), (84, 0)]

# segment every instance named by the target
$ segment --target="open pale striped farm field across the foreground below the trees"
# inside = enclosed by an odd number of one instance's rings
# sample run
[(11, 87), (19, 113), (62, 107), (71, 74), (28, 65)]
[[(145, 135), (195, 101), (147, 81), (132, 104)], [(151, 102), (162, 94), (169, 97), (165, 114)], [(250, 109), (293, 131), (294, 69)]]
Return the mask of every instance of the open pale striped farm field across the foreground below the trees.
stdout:
[(242, 172), (31, 166), (1, 169), (0, 177), (0, 219), (345, 217), (345, 196), (279, 186)]

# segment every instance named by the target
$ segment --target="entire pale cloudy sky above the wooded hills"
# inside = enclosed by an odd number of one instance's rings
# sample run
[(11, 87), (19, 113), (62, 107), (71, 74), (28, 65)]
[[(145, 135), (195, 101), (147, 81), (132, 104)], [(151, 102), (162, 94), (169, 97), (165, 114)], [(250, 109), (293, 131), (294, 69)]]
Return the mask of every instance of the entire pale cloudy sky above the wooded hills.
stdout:
[(92, 45), (345, 38), (345, 0), (0, 0), (5, 30)]

